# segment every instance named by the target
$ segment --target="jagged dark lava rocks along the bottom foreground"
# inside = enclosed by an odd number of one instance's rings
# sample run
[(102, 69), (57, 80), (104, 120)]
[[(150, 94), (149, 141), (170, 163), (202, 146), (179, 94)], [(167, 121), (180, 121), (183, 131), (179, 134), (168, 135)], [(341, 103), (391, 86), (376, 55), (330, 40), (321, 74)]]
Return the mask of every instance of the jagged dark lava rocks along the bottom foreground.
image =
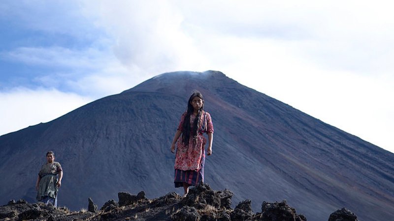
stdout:
[[(208, 184), (191, 188), (182, 198), (171, 192), (164, 196), (147, 199), (145, 192), (137, 195), (118, 193), (119, 201), (108, 200), (99, 211), (89, 198), (88, 211), (69, 211), (43, 203), (27, 203), (24, 200), (11, 200), (0, 206), (0, 219), (4, 220), (61, 220), (61, 221), (306, 221), (297, 214), (285, 200), (282, 202), (263, 202), (262, 211), (254, 213), (251, 200), (244, 200), (231, 208), (229, 190), (215, 191)], [(331, 214), (329, 221), (357, 221), (357, 217), (343, 208)]]

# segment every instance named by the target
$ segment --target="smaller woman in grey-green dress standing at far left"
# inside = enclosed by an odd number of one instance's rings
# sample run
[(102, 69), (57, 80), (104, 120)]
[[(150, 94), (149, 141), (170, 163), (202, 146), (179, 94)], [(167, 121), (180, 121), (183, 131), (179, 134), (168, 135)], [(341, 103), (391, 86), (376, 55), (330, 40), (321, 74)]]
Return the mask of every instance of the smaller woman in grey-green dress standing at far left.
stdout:
[[(42, 165), (35, 184), (37, 200), (45, 204), (51, 203), (57, 207), (58, 190), (62, 186), (63, 169), (58, 162), (55, 162), (53, 151), (46, 153), (46, 162)], [(59, 179), (57, 175), (59, 175)]]

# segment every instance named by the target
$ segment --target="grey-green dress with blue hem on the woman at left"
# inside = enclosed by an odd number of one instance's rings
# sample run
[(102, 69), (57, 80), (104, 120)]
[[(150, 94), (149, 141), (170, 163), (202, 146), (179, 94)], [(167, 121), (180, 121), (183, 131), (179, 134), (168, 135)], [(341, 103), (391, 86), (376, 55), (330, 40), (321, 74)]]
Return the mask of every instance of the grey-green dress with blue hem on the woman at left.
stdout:
[(45, 204), (51, 203), (55, 207), (58, 204), (58, 173), (63, 171), (62, 166), (58, 162), (47, 163), (42, 165), (38, 176), (40, 182), (38, 184), (37, 201)]

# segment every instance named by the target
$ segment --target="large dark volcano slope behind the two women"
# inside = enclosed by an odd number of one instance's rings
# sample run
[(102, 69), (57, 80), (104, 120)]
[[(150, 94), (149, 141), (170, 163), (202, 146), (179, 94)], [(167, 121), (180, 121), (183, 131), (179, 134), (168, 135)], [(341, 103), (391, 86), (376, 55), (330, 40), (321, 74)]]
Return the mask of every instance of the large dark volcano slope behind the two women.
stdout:
[[(220, 72), (159, 75), (49, 123), (0, 137), (0, 200), (34, 201), (45, 152), (65, 178), (59, 204), (100, 205), (117, 193), (173, 191), (169, 151), (192, 89), (205, 96), (215, 134), (205, 181), (230, 189), (234, 203), (287, 199), (309, 221), (341, 207), (360, 220), (393, 219), (394, 154), (343, 132)], [(181, 192), (181, 190), (179, 190)]]

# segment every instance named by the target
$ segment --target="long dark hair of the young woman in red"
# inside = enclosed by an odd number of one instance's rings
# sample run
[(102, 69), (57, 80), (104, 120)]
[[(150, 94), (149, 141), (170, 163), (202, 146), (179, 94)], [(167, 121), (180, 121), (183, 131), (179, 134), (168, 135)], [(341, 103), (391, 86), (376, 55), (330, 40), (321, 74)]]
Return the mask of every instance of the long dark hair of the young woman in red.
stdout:
[[(202, 100), (202, 105), (201, 108), (198, 110), (197, 116), (193, 122), (193, 129), (190, 130), (190, 115), (192, 115), (192, 113), (194, 112), (194, 108), (192, 105), (192, 101), (195, 97), (199, 97)], [(190, 96), (189, 101), (188, 101), (188, 110), (186, 111), (186, 115), (185, 118), (183, 120), (183, 125), (182, 125), (182, 142), (185, 145), (189, 145), (189, 139), (190, 136), (193, 136), (193, 141), (195, 141), (197, 139), (197, 134), (198, 134), (198, 125), (199, 125), (199, 121), (201, 118), (201, 113), (204, 109), (204, 98), (202, 97), (201, 92), (199, 92), (198, 90), (193, 91), (193, 94)]]

